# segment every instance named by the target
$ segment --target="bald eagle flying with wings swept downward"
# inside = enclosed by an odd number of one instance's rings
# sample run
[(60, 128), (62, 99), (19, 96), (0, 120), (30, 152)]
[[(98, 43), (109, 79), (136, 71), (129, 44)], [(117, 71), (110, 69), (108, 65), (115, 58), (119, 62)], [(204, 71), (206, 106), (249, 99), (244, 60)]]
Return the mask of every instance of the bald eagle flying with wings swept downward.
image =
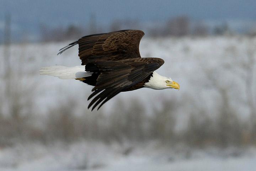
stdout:
[[(82, 65), (66, 67), (55, 65), (41, 68), (40, 74), (57, 76), (60, 79), (76, 79), (94, 86), (88, 100), (88, 109), (98, 109), (120, 92), (143, 87), (151, 89), (180, 89), (171, 78), (155, 72), (164, 64), (161, 58), (142, 58), (139, 43), (144, 32), (141, 30), (121, 30), (94, 34), (80, 38), (59, 50), (63, 53), (78, 44)], [(97, 95), (97, 96), (96, 96)]]

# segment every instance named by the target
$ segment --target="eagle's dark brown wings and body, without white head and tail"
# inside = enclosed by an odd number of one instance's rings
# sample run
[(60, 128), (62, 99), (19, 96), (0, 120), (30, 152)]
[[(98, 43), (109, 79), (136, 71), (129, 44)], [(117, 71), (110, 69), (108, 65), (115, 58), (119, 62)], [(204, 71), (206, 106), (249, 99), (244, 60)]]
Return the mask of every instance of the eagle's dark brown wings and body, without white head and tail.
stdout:
[(119, 92), (135, 90), (136, 84), (142, 87), (141, 82), (164, 63), (160, 58), (140, 57), (139, 43), (143, 35), (140, 30), (89, 35), (60, 49), (58, 54), (79, 44), (78, 56), (82, 65), (86, 65), (85, 70), (100, 72), (94, 92), (88, 98), (94, 97), (88, 108), (94, 104), (93, 110), (101, 103), (99, 109)]

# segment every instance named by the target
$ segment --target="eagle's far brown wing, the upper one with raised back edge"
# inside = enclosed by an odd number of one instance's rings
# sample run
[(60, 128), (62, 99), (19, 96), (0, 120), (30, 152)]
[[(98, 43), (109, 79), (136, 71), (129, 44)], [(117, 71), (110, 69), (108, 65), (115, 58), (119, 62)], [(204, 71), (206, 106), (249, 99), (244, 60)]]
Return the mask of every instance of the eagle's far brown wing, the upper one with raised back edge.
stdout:
[(79, 44), (78, 56), (82, 60), (82, 65), (100, 60), (116, 61), (140, 58), (139, 43), (143, 35), (144, 32), (141, 30), (121, 30), (106, 34), (84, 36), (78, 41), (60, 49), (58, 54)]

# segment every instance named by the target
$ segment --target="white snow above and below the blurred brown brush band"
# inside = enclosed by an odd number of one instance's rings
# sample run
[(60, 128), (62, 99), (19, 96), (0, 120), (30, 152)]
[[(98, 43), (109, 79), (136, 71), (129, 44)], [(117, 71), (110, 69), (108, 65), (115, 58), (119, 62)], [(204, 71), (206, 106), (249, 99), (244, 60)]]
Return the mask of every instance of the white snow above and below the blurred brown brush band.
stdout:
[[(68, 43), (15, 44), (10, 47), (10, 62), (14, 71), (12, 78), (15, 80), (13, 84), (17, 91), (24, 91), (19, 100), (29, 101), (33, 96), (33, 105), (22, 109), (22, 112), (30, 110), (33, 118), (48, 117), (49, 109), (60, 103), (68, 103), (69, 100), (76, 103), (74, 115), (90, 112), (87, 111), (87, 97), (91, 93), (91, 86), (76, 80), (39, 75), (39, 69), (49, 65), (80, 65), (77, 46), (57, 56), (58, 50)], [(0, 46), (2, 51), (4, 46)], [(126, 104), (123, 108), (132, 109), (130, 99), (137, 99), (150, 115), (168, 101), (178, 106), (172, 112), (177, 116), (175, 130), (179, 131), (187, 126), (193, 111), (202, 111), (212, 118), (216, 117), (224, 103), (221, 92), (226, 90), (229, 108), (238, 114), (239, 120), (249, 119), (252, 108), (248, 104), (248, 96), (256, 103), (256, 89), (253, 88), (256, 85), (256, 74), (251, 74), (256, 73), (256, 63), (251, 60), (256, 58), (256, 38), (143, 38), (140, 54), (142, 57), (164, 59), (164, 65), (157, 72), (178, 82), (180, 90), (143, 88), (122, 92), (99, 111), (94, 111), (94, 114), (101, 112), (107, 115), (115, 110), (118, 102)], [(2, 55), (0, 57), (3, 59)], [(4, 68), (1, 62), (0, 71), (3, 72)], [(249, 83), (246, 82), (248, 79)], [(2, 83), (0, 85), (4, 87)], [(251, 91), (248, 92), (248, 89)], [(8, 102), (1, 100), (3, 115), (10, 112), (7, 106)], [(34, 119), (33, 124), (39, 128), (46, 127), (40, 119)], [(169, 147), (157, 141), (105, 144), (81, 140), (72, 143), (54, 142), (51, 145), (14, 142), (11, 147), (0, 147), (1, 171), (253, 171), (256, 170), (255, 162), (254, 147), (230, 146), (224, 150), (209, 147), (200, 150), (182, 145)]]

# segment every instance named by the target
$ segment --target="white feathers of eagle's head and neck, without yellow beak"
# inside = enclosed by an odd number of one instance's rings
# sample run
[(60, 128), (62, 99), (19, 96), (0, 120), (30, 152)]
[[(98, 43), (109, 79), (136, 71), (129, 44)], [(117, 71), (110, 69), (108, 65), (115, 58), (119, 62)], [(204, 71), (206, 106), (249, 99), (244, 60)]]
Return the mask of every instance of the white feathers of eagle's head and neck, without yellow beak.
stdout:
[(153, 72), (149, 81), (145, 82), (144, 87), (150, 88), (150, 89), (155, 89), (155, 90), (166, 89), (167, 87), (165, 86), (165, 84), (163, 84), (165, 79), (166, 79), (166, 77), (159, 75), (156, 72)]

